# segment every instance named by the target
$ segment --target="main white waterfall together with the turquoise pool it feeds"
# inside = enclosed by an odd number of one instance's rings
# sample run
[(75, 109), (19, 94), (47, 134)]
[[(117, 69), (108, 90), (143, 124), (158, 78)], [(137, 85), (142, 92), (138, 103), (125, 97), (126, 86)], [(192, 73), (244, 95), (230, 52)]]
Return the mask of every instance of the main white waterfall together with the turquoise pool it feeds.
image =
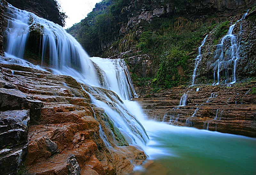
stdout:
[[(13, 15), (7, 14), (5, 55), (13, 58), (1, 62), (45, 70), (22, 60), (28, 29), (43, 26), (42, 62), (48, 53), (54, 73), (70, 75), (89, 86), (84, 91), (92, 103), (104, 109), (127, 142), (139, 145), (148, 159), (163, 166), (157, 171), (141, 168), (142, 174), (162, 174), (163, 170), (166, 174), (256, 174), (256, 139), (147, 120), (138, 103), (130, 100), (136, 93), (123, 60), (89, 58), (60, 26), (11, 5), (8, 13)], [(186, 105), (186, 98), (184, 94), (180, 105)], [(101, 127), (100, 136), (111, 148)]]

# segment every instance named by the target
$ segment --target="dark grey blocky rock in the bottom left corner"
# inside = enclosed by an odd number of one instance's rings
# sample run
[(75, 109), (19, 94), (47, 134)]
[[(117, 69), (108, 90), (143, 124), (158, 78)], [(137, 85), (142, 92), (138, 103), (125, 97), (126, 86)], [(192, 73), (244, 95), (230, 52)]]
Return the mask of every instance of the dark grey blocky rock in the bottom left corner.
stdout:
[(0, 174), (16, 174), (27, 154), (28, 110), (0, 114)]

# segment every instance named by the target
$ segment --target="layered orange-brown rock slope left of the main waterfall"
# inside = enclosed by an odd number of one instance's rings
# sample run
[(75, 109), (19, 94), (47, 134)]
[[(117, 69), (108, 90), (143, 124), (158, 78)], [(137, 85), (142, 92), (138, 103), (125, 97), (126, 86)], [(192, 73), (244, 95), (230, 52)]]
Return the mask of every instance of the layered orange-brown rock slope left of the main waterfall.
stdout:
[[(16, 130), (6, 128), (13, 130), (8, 132), (13, 139), (2, 142), (3, 138), (8, 137), (2, 137), (1, 134), (1, 160), (7, 160), (5, 155), (10, 154), (11, 146), (8, 145), (19, 142), (26, 146), (18, 149), (19, 152), (15, 149), (17, 154), (15, 152), (14, 158), (16, 160), (20, 157), (20, 162), (13, 162), (16, 166), (13, 174), (24, 160), (23, 173), (45, 175), (124, 174), (132, 171), (133, 164), (141, 164), (145, 160), (144, 152), (139, 149), (132, 146), (116, 147), (116, 141), (111, 136), (106, 135), (109, 144), (113, 145), (112, 149), (105, 146), (100, 138), (100, 125), (107, 133), (110, 132), (110, 127), (101, 120), (104, 118), (104, 110), (90, 104), (89, 95), (72, 77), (56, 76), (47, 71), (19, 65), (1, 64), (0, 80), (1, 111), (14, 110), (1, 112), (1, 121), (4, 120), (0, 122), (3, 126), (1, 132), (6, 127), (14, 126), (2, 117), (8, 113), (14, 113), (18, 123), (16, 125), (21, 127)], [(88, 88), (85, 85), (83, 87)], [(26, 110), (15, 111), (17, 109)], [(27, 130), (23, 129), (26, 117), (18, 118), (16, 113), (27, 114), (25, 116), (30, 114), (31, 125)], [(19, 137), (14, 136), (17, 132)], [(27, 153), (26, 159), (23, 152)], [(131, 160), (134, 160), (133, 163)], [(1, 164), (0, 169), (7, 172), (9, 167)]]

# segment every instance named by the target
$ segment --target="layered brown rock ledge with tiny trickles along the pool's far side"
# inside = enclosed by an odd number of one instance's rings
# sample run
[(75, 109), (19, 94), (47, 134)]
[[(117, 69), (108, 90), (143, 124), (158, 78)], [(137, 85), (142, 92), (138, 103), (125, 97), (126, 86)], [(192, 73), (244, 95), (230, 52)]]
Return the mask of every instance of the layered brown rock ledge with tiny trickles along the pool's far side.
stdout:
[[(157, 93), (145, 92), (136, 101), (150, 119), (256, 137), (255, 83), (178, 87)], [(182, 96), (183, 99), (187, 96), (185, 106), (179, 106)]]

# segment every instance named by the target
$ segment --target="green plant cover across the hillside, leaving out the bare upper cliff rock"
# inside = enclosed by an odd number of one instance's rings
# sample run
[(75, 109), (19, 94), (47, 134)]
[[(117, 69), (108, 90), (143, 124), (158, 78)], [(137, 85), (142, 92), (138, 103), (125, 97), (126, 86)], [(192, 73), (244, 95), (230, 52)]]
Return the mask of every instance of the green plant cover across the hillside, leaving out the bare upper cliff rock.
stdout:
[[(216, 22), (218, 19), (208, 16), (206, 18), (215, 20), (191, 20), (181, 8), (194, 0), (173, 0), (168, 1), (175, 5), (172, 14), (152, 18), (150, 22), (141, 21), (127, 30), (125, 27), (128, 18), (132, 17), (131, 11), (140, 11), (141, 8), (142, 2), (133, 2), (134, 5), (128, 5), (130, 2), (126, 0), (103, 0), (96, 4), (96, 9), (87, 18), (68, 29), (68, 32), (76, 37), (91, 56), (106, 57), (129, 50), (132, 53), (124, 54), (122, 58), (147, 55), (153, 63), (154, 75), (140, 77), (140, 65), (135, 64), (129, 65), (131, 77), (136, 86), (152, 87), (156, 91), (188, 84), (193, 70), (192, 62), (205, 34), (214, 29), (213, 43), (218, 44), (230, 25), (229, 21)], [(165, 6), (167, 0), (159, 3)], [(152, 10), (150, 1), (144, 0), (143, 4), (146, 11)], [(128, 6), (132, 9), (127, 10)], [(205, 22), (207, 20), (208, 23)]]

